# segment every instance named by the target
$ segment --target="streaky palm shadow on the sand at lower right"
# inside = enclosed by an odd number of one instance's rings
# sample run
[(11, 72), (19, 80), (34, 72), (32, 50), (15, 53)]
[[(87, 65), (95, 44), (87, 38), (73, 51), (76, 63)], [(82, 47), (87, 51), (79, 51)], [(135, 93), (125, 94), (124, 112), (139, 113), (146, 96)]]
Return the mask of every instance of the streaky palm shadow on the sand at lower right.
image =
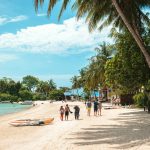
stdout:
[(150, 141), (149, 114), (142, 111), (121, 113), (111, 120), (120, 125), (91, 125), (73, 133), (74, 138), (70, 140), (74, 140), (73, 144), (78, 146), (111, 144), (115, 149), (140, 147)]

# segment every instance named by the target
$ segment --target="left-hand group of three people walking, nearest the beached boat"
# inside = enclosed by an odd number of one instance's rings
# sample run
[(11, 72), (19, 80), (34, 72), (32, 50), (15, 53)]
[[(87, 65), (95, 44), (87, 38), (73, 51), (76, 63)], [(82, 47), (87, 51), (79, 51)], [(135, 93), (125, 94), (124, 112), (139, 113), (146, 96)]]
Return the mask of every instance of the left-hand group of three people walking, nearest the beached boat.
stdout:
[[(64, 115), (65, 115), (65, 120), (68, 120), (69, 117), (69, 113), (73, 113), (68, 104), (66, 104), (65, 108), (63, 106), (60, 107), (60, 119), (61, 121), (64, 120)], [(80, 108), (78, 105), (76, 105), (74, 107), (74, 116), (75, 116), (75, 120), (79, 120), (79, 113), (80, 113)]]

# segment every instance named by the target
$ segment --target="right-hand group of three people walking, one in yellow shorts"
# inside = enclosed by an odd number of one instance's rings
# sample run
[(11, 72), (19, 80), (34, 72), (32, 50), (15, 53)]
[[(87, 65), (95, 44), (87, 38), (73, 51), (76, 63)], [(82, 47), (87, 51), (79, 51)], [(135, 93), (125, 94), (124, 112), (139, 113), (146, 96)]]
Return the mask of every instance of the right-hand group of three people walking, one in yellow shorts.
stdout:
[[(95, 100), (93, 103), (93, 108), (94, 108), (94, 116), (100, 115), (101, 116), (101, 109), (102, 109), (102, 103), (101, 101)], [(91, 115), (91, 108), (92, 108), (92, 102), (89, 100), (86, 103), (86, 108), (87, 108), (87, 115)]]

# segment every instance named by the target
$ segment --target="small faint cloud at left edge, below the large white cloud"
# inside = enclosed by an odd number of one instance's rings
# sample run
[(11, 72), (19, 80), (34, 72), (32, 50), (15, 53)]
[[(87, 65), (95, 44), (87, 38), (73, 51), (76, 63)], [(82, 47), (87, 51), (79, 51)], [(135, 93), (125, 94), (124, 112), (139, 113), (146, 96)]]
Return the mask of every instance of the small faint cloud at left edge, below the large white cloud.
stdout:
[(1, 54), (0, 55), (0, 63), (8, 62), (8, 61), (16, 60), (16, 59), (18, 59), (18, 57), (15, 55), (12, 55), (12, 54)]

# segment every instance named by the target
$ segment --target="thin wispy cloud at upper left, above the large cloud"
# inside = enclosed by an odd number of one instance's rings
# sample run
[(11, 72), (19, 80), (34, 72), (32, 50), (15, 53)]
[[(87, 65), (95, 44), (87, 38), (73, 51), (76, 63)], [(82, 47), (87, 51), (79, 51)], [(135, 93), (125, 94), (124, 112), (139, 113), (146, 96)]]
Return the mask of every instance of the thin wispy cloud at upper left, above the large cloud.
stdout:
[(26, 20), (26, 19), (27, 19), (27, 16), (23, 16), (23, 15), (16, 16), (16, 17), (13, 17), (13, 18), (7, 18), (7, 17), (0, 16), (0, 25), (4, 25), (4, 24), (7, 24), (7, 23), (11, 23), (11, 22), (19, 22), (19, 21), (23, 21), (23, 20)]

